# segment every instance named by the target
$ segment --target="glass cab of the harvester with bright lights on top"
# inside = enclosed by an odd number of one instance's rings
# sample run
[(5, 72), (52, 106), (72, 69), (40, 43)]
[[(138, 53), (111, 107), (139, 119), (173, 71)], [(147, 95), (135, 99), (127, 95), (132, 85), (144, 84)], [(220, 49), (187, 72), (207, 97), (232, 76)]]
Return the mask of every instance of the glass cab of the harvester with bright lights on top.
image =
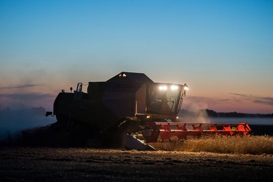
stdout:
[(151, 86), (148, 93), (148, 111), (151, 114), (176, 114), (180, 93), (178, 86)]

